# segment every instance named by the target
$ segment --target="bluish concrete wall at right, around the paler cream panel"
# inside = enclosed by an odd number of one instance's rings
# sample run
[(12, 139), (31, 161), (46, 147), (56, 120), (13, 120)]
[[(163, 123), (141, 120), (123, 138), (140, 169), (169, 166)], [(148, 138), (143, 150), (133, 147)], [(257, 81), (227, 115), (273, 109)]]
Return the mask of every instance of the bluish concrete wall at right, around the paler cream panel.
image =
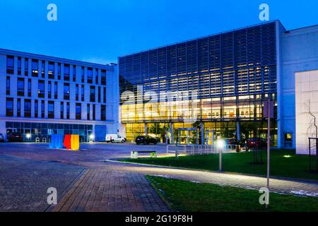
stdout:
[[(281, 35), (281, 110), (278, 146), (296, 147), (295, 73), (318, 69), (318, 25), (283, 32)], [(285, 133), (293, 134), (293, 142), (285, 143)]]

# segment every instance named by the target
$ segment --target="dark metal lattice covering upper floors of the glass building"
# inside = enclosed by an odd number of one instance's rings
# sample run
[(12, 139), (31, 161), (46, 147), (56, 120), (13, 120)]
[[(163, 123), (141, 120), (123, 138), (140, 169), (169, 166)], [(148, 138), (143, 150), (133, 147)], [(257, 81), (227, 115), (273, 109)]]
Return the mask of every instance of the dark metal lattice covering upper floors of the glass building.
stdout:
[(136, 85), (199, 99), (276, 93), (276, 22), (119, 57), (120, 93)]

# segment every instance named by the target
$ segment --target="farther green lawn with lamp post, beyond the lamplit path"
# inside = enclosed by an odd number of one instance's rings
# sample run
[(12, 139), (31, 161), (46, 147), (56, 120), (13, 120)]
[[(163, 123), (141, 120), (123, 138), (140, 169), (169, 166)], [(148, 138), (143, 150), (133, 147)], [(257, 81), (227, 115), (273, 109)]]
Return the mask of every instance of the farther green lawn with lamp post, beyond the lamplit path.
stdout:
[[(242, 174), (266, 175), (266, 151), (261, 151), (265, 164), (254, 165), (253, 153), (228, 153), (223, 155), (223, 170)], [(290, 155), (290, 157), (284, 157)], [(218, 170), (218, 154), (175, 157), (125, 159), (152, 165)], [(312, 161), (314, 163), (314, 160)], [(295, 150), (271, 150), (271, 176), (318, 181), (318, 174), (309, 172), (309, 157), (295, 155)]]

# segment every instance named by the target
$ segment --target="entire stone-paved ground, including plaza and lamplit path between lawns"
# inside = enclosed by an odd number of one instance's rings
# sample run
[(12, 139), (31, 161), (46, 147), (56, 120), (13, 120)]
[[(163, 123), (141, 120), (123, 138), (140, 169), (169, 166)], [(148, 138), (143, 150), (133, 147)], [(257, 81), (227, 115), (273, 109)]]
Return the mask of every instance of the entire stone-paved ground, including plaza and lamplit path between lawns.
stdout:
[[(82, 144), (80, 151), (70, 152), (47, 144), (0, 143), (0, 211), (169, 210), (147, 174), (247, 189), (266, 186), (264, 177), (105, 162), (129, 157), (136, 148), (165, 153), (163, 145)], [(270, 185), (274, 192), (318, 197), (318, 182), (271, 179)], [(57, 206), (46, 203), (50, 186), (59, 191)]]

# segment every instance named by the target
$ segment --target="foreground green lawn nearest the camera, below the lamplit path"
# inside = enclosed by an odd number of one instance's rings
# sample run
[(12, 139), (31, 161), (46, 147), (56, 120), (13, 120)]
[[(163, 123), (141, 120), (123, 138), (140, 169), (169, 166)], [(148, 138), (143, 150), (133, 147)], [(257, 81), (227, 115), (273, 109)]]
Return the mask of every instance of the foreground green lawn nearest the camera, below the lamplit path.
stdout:
[(269, 208), (259, 204), (259, 191), (216, 184), (147, 176), (170, 208), (184, 212), (317, 212), (318, 198), (283, 194), (269, 196)]

